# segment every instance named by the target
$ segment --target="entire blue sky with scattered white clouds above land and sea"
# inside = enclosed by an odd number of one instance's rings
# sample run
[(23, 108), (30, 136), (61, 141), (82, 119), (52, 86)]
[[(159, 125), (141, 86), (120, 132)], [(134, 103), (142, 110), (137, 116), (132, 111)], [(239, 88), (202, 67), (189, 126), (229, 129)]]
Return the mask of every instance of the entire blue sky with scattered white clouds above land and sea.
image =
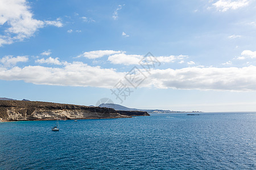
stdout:
[(0, 97), (256, 111), (255, 0), (0, 0)]

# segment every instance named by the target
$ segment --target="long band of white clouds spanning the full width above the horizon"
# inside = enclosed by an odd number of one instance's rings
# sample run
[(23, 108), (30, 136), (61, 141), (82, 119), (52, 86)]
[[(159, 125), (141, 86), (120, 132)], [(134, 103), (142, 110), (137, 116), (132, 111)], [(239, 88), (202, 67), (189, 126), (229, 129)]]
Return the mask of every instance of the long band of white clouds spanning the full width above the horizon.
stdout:
[[(49, 56), (50, 50), (42, 53)], [(96, 50), (85, 52), (81, 57), (99, 58), (108, 56), (108, 61), (113, 64), (134, 65), (136, 72), (117, 71), (104, 69), (100, 66), (89, 66), (83, 62), (60, 61), (59, 58), (41, 58), (35, 60), (35, 65), (16, 66), (18, 62), (28, 62), (28, 56), (5, 56), (0, 58), (1, 80), (23, 80), (27, 83), (46, 84), (54, 86), (83, 86), (114, 88), (121, 80), (129, 87), (133, 87), (127, 77), (140, 76), (146, 79), (139, 87), (174, 88), (181, 90), (216, 90), (216, 91), (256, 91), (256, 66), (246, 67), (199, 67), (195, 62), (189, 61), (189, 67), (182, 69), (159, 69), (139, 65), (144, 59), (142, 55), (126, 54), (119, 50)], [(237, 59), (256, 58), (256, 52), (243, 50)], [(154, 57), (159, 63), (184, 63), (188, 56), (158, 56)], [(47, 66), (36, 65), (46, 64)], [(228, 61), (222, 65), (231, 65)], [(194, 66), (195, 65), (195, 66)]]

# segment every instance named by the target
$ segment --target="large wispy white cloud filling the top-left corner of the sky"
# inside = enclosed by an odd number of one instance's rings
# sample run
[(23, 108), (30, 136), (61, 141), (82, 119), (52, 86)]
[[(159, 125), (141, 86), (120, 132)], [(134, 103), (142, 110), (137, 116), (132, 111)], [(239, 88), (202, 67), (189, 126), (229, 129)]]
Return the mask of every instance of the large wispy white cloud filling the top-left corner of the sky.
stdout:
[(0, 35), (0, 46), (28, 39), (46, 25), (62, 27), (60, 19), (56, 21), (34, 19), (26, 0), (0, 1), (0, 26), (5, 29)]

